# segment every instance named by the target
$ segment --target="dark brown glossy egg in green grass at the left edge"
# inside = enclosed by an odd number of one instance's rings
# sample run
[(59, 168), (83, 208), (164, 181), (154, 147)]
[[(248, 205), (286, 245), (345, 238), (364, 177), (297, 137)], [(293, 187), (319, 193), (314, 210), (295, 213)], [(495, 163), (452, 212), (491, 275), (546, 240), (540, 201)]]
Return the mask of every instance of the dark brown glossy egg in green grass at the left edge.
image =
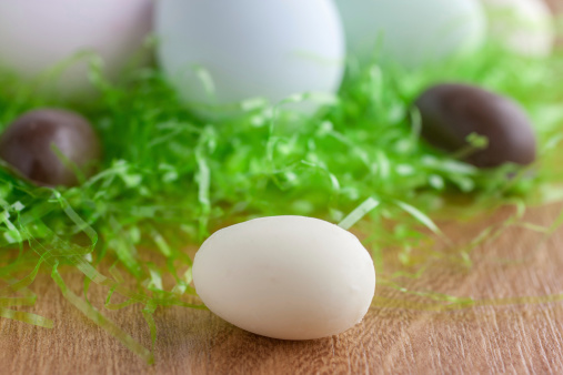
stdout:
[(28, 112), (0, 136), (0, 158), (39, 185), (76, 185), (73, 166), (88, 176), (100, 154), (100, 142), (90, 123), (64, 110)]

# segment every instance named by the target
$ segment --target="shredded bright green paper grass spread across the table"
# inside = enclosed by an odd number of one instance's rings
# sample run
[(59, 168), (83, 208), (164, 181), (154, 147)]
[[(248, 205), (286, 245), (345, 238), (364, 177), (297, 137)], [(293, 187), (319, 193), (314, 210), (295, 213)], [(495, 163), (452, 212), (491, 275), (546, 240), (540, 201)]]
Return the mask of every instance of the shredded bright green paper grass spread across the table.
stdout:
[[(0, 130), (31, 109), (71, 109), (92, 121), (104, 158), (97, 175), (71, 189), (37, 188), (0, 169), (0, 316), (53, 326), (26, 308), (37, 300), (28, 287), (44, 268), (70, 303), (152, 362), (149, 348), (90, 305), (89, 285), (108, 288), (107, 308), (142, 305), (154, 344), (152, 314), (159, 306), (204, 308), (190, 286), (187, 245), (268, 215), (315, 216), (363, 234), (378, 285), (426, 300), (412, 308), (476, 305), (468, 296), (409, 290), (401, 276), (419, 277), (428, 261), (441, 259), (432, 249), (449, 240), (436, 217), (464, 221), (516, 206), (505, 222), (448, 255), (471, 267), (477, 245), (499, 230), (526, 226), (526, 207), (561, 200), (563, 92), (554, 79), (563, 73), (561, 58), (524, 59), (490, 45), (416, 71), (350, 62), (335, 97), (302, 94), (275, 105), (252, 99), (240, 103), (241, 115), (213, 121), (190, 112), (155, 68), (131, 69), (115, 83), (102, 77), (93, 58), (90, 80), (101, 94), (82, 103), (48, 92), (51, 74), (22, 82), (2, 73)], [(422, 142), (411, 104), (439, 82), (474, 83), (517, 100), (535, 126), (539, 161), (481, 170)], [(292, 112), (291, 103), (303, 100), (320, 101), (323, 109), (311, 116)], [(549, 232), (556, 225), (526, 227)], [(386, 271), (384, 254), (402, 271)], [(100, 264), (108, 260), (112, 266), (103, 272)], [(84, 274), (83, 295), (67, 286), (61, 265)], [(111, 303), (113, 294), (124, 302)]]

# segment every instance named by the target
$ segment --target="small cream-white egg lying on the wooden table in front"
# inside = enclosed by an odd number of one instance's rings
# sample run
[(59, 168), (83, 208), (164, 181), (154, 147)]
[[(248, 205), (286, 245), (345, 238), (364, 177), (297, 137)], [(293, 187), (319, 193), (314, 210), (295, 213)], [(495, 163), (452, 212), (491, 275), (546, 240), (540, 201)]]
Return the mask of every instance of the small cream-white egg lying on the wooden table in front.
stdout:
[(193, 282), (205, 305), (240, 328), (312, 339), (362, 321), (375, 271), (350, 232), (318, 219), (274, 216), (209, 237), (195, 255)]

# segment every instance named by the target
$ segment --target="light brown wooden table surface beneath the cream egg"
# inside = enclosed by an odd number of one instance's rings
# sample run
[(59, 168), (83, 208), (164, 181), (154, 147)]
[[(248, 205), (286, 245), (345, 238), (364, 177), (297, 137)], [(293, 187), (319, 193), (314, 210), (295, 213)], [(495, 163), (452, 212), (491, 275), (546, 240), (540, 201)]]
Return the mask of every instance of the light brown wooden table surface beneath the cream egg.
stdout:
[[(533, 209), (526, 220), (546, 224), (560, 211), (561, 205)], [(463, 243), (483, 225), (482, 221), (452, 224), (445, 232)], [(455, 259), (455, 246), (440, 251)], [(483, 305), (462, 308), (429, 303), (423, 296), (379, 285), (363, 323), (324, 339), (270, 339), (233, 327), (207, 311), (158, 310), (157, 363), (152, 366), (81, 315), (49, 275), (40, 275), (32, 290), (41, 297), (30, 311), (54, 320), (56, 326), (47, 330), (0, 320), (0, 373), (563, 373), (563, 230), (545, 236), (511, 227), (470, 256), (472, 266), (435, 261), (420, 277), (401, 284), (412, 291), (484, 300)], [(396, 259), (393, 254), (388, 257)], [(393, 266), (392, 261), (385, 266)], [(80, 275), (67, 272), (63, 276), (80, 292)], [(104, 293), (94, 287), (91, 300), (103, 300)], [(522, 296), (527, 298), (513, 300)], [(139, 308), (125, 311), (107, 315), (150, 347)]]

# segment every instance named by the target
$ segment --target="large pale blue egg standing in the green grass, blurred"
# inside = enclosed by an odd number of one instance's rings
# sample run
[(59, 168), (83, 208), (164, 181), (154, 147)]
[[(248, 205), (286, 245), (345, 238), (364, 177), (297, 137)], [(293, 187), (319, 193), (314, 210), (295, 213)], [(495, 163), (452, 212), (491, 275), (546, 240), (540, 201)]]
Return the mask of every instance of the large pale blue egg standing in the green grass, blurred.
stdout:
[(160, 63), (194, 108), (332, 94), (342, 80), (344, 37), (332, 0), (164, 0), (155, 29)]

